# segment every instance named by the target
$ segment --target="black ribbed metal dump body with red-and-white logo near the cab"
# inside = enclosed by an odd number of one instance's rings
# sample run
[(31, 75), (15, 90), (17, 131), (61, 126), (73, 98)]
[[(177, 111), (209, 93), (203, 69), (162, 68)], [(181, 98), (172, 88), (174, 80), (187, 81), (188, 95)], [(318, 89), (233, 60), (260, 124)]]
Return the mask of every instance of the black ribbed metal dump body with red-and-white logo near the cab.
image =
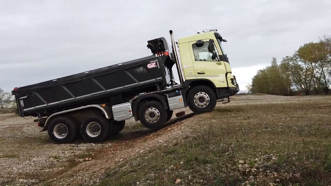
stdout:
[(49, 115), (103, 101), (115, 105), (124, 102), (125, 97), (132, 98), (144, 91), (155, 91), (157, 87), (165, 86), (172, 77), (173, 64), (168, 55), (152, 55), (15, 88), (12, 94), (22, 117), (36, 116), (37, 113)]

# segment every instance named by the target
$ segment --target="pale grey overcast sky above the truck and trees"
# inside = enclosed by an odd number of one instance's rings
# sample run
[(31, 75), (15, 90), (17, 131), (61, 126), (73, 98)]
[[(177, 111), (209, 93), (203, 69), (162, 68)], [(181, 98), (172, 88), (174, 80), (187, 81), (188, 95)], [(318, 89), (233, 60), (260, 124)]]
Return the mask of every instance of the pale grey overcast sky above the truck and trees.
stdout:
[[(241, 90), (258, 69), (331, 34), (330, 0), (0, 0), (0, 87), (150, 55), (147, 40), (218, 28)], [(175, 71), (176, 72), (176, 71)]]

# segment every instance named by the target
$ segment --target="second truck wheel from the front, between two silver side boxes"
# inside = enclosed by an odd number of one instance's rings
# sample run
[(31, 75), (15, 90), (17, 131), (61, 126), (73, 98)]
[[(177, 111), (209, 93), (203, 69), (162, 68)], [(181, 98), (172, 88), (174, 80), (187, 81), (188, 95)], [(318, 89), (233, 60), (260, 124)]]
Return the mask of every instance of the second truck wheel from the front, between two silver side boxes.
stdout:
[[(150, 120), (145, 117), (145, 114)], [(162, 104), (157, 101), (149, 101), (143, 104), (139, 110), (140, 122), (148, 129), (161, 128), (166, 123), (167, 117), (168, 112), (163, 108)], [(152, 122), (152, 119), (155, 120)]]

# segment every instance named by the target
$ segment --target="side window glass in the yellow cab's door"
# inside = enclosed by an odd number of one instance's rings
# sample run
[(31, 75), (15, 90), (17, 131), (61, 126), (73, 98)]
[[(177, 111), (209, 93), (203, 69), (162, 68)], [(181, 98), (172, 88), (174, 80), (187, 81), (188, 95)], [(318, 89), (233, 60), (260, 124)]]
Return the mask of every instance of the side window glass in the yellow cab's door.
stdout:
[[(212, 60), (213, 54), (208, 51), (208, 41), (205, 41), (202, 47), (197, 47), (197, 45), (193, 43), (192, 48), (193, 48), (195, 61), (218, 61), (217, 58)], [(214, 49), (218, 56), (218, 51), (215, 44), (214, 44)]]

